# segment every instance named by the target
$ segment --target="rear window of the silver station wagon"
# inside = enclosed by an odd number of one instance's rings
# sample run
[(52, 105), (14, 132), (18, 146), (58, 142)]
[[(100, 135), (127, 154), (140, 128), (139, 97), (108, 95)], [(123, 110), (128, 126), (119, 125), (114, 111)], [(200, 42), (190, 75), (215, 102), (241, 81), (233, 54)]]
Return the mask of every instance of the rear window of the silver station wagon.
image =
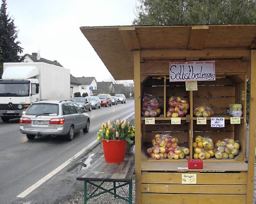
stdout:
[(34, 103), (26, 110), (26, 115), (59, 115), (59, 105), (53, 103)]

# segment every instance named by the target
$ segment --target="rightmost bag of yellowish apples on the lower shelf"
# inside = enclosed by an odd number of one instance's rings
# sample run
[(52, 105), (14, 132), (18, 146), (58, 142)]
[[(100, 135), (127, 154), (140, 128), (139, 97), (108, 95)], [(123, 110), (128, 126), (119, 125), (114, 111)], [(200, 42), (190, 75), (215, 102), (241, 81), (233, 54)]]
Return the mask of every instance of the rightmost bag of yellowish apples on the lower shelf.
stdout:
[(234, 158), (239, 153), (239, 141), (234, 139), (218, 140), (214, 146), (214, 154), (217, 159)]

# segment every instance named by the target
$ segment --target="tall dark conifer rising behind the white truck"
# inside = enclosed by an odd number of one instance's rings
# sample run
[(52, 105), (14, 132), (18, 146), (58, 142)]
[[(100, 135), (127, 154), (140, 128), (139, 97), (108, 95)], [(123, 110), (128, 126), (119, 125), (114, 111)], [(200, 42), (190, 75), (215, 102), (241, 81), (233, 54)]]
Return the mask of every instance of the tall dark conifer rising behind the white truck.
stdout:
[[(0, 64), (4, 62), (20, 62), (23, 56), (18, 54), (22, 53), (23, 48), (19, 46), (20, 42), (17, 41), (18, 31), (14, 26), (14, 20), (9, 18), (6, 14), (6, 0), (2, 0), (0, 8)], [(2, 76), (2, 70), (0, 70), (0, 76)]]

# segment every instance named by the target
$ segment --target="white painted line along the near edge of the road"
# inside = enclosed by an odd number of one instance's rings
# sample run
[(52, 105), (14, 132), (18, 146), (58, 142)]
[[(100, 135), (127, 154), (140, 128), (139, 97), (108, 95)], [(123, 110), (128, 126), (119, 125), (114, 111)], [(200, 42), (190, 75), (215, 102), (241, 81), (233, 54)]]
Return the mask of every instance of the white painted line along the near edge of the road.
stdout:
[(58, 173), (60, 170), (62, 170), (65, 166), (67, 166), (68, 164), (70, 164), (74, 159), (76, 159), (78, 156), (80, 156), (82, 153), (84, 153), (87, 149), (89, 149), (90, 147), (92, 147), (92, 145), (94, 145), (95, 143), (97, 143), (97, 139), (94, 140), (92, 143), (90, 143), (89, 145), (87, 145), (84, 149), (82, 149), (80, 152), (76, 153), (74, 156), (72, 156), (69, 160), (67, 160), (66, 162), (64, 162), (63, 164), (61, 164), (60, 166), (58, 166), (57, 168), (55, 168), (52, 172), (50, 172), (49, 174), (47, 174), (46, 176), (44, 176), (44, 178), (40, 179), (38, 182), (36, 182), (34, 185), (30, 186), (28, 189), (24, 190), (21, 194), (19, 194), (17, 196), (17, 198), (24, 198), (26, 197), (28, 194), (30, 194), (33, 190), (35, 190), (38, 186), (40, 186), (41, 184), (43, 184), (44, 182), (46, 182), (46, 180), (48, 180), (49, 178), (51, 178), (52, 176), (54, 176), (56, 173)]

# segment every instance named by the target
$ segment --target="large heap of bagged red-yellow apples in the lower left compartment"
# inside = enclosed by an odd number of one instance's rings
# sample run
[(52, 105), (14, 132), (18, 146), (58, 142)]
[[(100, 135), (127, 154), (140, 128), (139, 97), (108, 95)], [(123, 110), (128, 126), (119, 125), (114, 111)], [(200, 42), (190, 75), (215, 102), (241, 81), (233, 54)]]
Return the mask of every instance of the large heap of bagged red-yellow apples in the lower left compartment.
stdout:
[(189, 154), (187, 147), (178, 147), (178, 138), (169, 134), (156, 134), (152, 140), (153, 146), (147, 149), (147, 154), (153, 159), (181, 159)]

